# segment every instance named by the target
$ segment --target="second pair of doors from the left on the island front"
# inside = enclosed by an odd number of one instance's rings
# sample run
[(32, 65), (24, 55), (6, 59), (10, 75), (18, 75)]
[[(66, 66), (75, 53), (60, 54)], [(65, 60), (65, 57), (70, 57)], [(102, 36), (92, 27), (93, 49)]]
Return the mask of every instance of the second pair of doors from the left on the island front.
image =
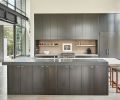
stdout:
[(33, 94), (56, 94), (57, 67), (40, 64), (33, 67)]

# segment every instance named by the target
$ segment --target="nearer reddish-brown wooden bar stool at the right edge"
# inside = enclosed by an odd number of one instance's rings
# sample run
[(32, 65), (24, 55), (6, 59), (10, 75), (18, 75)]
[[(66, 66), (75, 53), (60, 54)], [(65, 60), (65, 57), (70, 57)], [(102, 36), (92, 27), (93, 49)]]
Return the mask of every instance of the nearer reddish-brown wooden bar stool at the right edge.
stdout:
[[(114, 73), (115, 72), (115, 78), (116, 81), (114, 80)], [(120, 72), (120, 68), (112, 68), (112, 87), (116, 88), (116, 93), (120, 93), (120, 83), (119, 83), (119, 77), (118, 73)]]

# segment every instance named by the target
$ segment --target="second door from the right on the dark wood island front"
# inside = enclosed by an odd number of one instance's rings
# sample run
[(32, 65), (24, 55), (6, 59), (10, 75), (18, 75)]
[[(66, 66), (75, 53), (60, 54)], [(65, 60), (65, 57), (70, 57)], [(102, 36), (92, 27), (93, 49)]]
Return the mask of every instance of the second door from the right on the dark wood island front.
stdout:
[(95, 66), (82, 65), (82, 94), (93, 95), (95, 94)]

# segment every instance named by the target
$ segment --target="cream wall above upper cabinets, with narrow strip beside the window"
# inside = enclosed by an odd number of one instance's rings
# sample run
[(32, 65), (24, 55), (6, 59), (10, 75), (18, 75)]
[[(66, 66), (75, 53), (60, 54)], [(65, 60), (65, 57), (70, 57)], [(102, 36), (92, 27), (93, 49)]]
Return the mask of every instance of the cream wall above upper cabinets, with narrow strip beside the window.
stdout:
[(117, 13), (120, 0), (30, 0), (31, 57), (34, 57), (34, 13)]

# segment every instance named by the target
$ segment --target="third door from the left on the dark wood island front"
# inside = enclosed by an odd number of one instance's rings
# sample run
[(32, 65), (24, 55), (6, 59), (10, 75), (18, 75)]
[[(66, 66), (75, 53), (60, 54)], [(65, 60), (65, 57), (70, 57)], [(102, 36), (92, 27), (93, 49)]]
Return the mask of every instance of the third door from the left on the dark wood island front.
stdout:
[(46, 71), (44, 65), (33, 67), (33, 94), (44, 95), (47, 90)]

